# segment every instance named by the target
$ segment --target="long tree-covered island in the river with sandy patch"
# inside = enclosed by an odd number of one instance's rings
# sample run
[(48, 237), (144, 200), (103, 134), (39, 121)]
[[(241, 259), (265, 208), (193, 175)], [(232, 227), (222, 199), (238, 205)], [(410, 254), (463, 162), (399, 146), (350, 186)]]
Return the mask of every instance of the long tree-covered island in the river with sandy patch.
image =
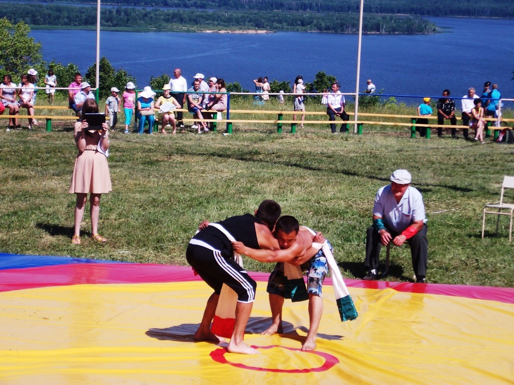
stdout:
[[(2, 11), (12, 23), (50, 27), (93, 27), (96, 7), (3, 3)], [(357, 33), (358, 14), (277, 11), (162, 10), (128, 7), (102, 8), (101, 26), (107, 28), (198, 30), (268, 30)], [(431, 33), (435, 25), (418, 17), (366, 15), (364, 33)]]

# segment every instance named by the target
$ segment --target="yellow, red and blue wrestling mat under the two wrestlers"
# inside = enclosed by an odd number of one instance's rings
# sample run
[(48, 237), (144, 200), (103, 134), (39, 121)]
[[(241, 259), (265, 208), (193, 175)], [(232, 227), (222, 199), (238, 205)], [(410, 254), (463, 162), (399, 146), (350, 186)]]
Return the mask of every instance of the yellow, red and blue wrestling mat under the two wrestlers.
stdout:
[(514, 289), (346, 280), (341, 322), (323, 286), (318, 349), (300, 350), (307, 302), (261, 336), (267, 274), (245, 340), (258, 356), (194, 342), (210, 288), (189, 267), (0, 254), (0, 384), (514, 383)]

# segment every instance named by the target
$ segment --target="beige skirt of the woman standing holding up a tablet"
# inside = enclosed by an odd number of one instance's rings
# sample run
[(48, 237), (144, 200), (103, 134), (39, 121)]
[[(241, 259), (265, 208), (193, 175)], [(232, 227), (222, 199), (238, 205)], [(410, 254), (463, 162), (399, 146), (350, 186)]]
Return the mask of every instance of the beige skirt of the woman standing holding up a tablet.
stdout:
[(76, 194), (105, 194), (112, 191), (111, 175), (107, 158), (98, 151), (85, 150), (79, 153), (75, 160), (75, 167), (71, 177), (68, 192)]

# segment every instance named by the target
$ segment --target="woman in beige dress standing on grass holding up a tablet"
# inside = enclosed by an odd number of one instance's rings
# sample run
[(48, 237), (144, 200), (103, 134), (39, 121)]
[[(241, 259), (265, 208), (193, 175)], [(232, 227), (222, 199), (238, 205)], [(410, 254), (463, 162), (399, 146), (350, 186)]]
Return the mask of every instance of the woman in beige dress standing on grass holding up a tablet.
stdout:
[[(75, 168), (68, 192), (77, 194), (75, 206), (75, 233), (71, 243), (80, 244), (80, 225), (84, 216), (84, 207), (89, 193), (89, 214), (91, 216), (91, 239), (97, 242), (107, 240), (98, 234), (98, 216), (100, 214), (100, 197), (112, 190), (111, 176), (107, 165), (109, 149), (108, 124), (90, 127), (86, 113), (98, 112), (98, 104), (94, 99), (87, 99), (82, 107), (84, 120), (75, 123), (74, 137), (79, 155), (75, 160)], [(93, 128), (93, 129), (91, 129)]]

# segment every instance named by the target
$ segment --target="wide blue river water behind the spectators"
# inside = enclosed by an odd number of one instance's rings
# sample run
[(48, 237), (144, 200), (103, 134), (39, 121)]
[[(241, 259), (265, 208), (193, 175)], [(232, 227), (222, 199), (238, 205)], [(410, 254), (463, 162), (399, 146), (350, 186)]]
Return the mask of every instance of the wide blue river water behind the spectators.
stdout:
[[(514, 97), (514, 20), (429, 19), (445, 32), (362, 37), (361, 91), (372, 78), (384, 94), (437, 97), (449, 88), (452, 96), (462, 97), (471, 86), (481, 93), (491, 81), (502, 97)], [(47, 62), (75, 63), (82, 73), (95, 63), (96, 31), (32, 30), (31, 36), (42, 43)], [(310, 32), (102, 31), (100, 55), (135, 76), (138, 88), (148, 85), (151, 75), (179, 67), (188, 82), (201, 72), (251, 91), (258, 76), (292, 84), (298, 74), (312, 82), (325, 71), (341, 82), (341, 91), (354, 92), (357, 45), (357, 35)]]

